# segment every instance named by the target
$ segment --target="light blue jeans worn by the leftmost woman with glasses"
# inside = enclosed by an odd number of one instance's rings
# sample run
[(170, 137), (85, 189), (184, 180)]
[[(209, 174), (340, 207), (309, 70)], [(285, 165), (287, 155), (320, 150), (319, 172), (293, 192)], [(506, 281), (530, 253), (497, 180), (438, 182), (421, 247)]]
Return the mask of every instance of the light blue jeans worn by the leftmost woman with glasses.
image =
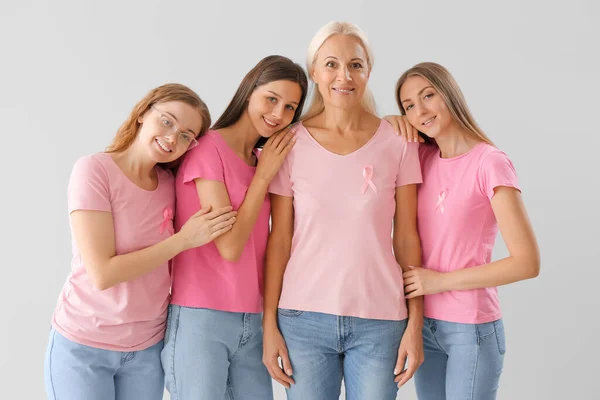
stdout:
[(102, 350), (75, 343), (54, 329), (44, 362), (51, 400), (161, 400), (164, 373), (161, 340), (134, 352)]

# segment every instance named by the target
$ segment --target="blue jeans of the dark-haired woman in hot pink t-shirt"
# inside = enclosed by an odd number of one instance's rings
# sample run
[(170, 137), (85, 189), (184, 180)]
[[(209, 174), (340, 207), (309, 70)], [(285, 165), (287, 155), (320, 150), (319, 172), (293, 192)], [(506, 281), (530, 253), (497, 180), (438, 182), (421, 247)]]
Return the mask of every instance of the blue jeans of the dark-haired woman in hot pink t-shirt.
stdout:
[(273, 399), (262, 350), (262, 314), (171, 304), (161, 354), (171, 399)]

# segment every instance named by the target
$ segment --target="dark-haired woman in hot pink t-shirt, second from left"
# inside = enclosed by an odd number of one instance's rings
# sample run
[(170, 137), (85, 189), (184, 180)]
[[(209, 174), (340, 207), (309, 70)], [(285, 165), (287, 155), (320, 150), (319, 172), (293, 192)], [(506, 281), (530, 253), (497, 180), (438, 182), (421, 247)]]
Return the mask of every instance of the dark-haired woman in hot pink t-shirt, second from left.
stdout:
[(162, 353), (173, 399), (273, 396), (262, 365), (267, 187), (294, 144), (287, 127), (300, 116), (306, 91), (299, 65), (264, 58), (179, 168), (176, 228), (200, 207), (232, 206), (238, 214), (229, 232), (173, 260)]

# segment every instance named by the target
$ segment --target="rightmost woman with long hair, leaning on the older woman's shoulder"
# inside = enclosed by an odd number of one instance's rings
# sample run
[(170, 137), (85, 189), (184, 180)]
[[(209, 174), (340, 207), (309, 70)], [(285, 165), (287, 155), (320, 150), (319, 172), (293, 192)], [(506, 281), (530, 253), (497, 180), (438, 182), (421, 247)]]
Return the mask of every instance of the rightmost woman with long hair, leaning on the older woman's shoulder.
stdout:
[[(406, 297), (425, 296), (419, 399), (496, 398), (506, 351), (496, 286), (536, 277), (538, 247), (515, 169), (471, 116), (441, 65), (422, 63), (396, 86), (404, 117), (386, 117), (419, 140), (423, 268), (404, 273)], [(490, 262), (500, 228), (510, 256)]]

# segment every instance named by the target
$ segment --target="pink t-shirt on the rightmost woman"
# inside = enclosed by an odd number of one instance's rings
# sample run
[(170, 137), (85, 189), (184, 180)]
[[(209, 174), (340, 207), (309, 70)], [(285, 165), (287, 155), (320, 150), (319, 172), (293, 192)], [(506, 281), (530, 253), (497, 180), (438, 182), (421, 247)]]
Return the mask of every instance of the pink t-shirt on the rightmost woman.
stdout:
[[(515, 169), (502, 151), (479, 143), (454, 158), (441, 158), (437, 146), (419, 150), (418, 223), (423, 267), (449, 272), (490, 262), (498, 233), (490, 203), (494, 188), (519, 188)], [(425, 296), (426, 317), (479, 324), (501, 317), (496, 288), (453, 290)]]

